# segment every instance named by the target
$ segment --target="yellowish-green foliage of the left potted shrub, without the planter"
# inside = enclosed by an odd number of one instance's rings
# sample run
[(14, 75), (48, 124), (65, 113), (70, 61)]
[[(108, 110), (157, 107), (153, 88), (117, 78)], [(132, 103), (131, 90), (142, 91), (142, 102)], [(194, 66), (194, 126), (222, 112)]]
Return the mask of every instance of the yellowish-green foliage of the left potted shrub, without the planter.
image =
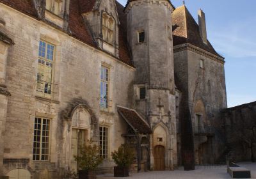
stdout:
[(92, 141), (89, 141), (88, 145), (82, 146), (79, 155), (74, 157), (82, 170), (94, 170), (103, 161), (99, 155), (99, 147), (96, 144), (92, 144)]

